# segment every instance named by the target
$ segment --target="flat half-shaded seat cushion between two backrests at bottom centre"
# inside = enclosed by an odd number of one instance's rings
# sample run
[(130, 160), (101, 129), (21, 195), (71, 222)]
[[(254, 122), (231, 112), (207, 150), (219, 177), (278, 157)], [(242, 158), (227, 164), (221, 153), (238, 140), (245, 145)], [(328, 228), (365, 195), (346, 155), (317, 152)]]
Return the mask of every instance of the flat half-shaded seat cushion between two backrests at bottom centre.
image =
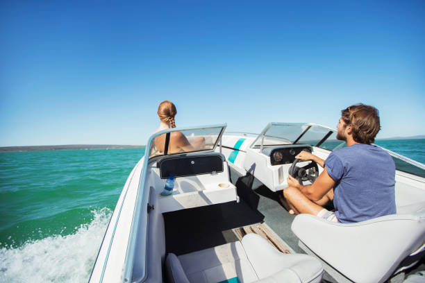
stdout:
[(178, 259), (190, 282), (216, 283), (233, 277), (241, 283), (258, 280), (240, 241), (191, 252)]

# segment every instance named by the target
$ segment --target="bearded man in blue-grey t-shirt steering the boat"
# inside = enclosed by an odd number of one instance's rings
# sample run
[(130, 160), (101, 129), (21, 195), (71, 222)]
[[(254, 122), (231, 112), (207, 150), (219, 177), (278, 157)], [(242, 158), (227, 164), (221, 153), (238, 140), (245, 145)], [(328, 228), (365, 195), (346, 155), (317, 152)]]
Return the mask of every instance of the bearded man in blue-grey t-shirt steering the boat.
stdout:
[[(372, 145), (381, 129), (378, 110), (358, 104), (341, 112), (337, 139), (347, 147), (328, 156), (324, 171), (312, 185), (300, 185), (289, 175), (285, 200), (295, 214), (313, 214), (340, 223), (395, 214), (395, 164), (386, 151)], [(329, 196), (333, 196), (335, 212), (322, 207), (322, 200)]]

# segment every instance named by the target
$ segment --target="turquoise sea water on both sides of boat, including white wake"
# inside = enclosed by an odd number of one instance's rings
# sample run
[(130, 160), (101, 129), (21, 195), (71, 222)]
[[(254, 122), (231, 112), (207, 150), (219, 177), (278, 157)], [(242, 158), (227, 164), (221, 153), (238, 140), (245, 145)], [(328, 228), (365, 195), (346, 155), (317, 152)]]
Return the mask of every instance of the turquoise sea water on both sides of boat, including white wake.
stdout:
[[(425, 139), (376, 141), (425, 163)], [(0, 282), (87, 282), (144, 148), (0, 153)]]

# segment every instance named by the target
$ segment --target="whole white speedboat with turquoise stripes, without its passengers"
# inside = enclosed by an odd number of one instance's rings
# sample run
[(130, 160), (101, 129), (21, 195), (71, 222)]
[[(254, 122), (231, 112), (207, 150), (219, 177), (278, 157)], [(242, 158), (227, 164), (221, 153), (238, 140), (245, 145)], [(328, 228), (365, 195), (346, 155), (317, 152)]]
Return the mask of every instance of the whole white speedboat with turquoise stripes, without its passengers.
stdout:
[[(314, 123), (269, 123), (259, 135), (225, 129), (173, 128), (149, 137), (90, 282), (403, 282), (412, 268), (423, 268), (424, 164), (388, 151), (397, 167), (397, 214), (331, 223), (289, 214), (278, 194), (288, 174), (314, 182), (322, 168), (295, 156), (309, 151), (326, 160), (345, 146), (334, 129)], [(176, 131), (204, 143), (172, 152)], [(161, 135), (165, 146), (156, 148)], [(163, 196), (171, 175), (174, 189)]]

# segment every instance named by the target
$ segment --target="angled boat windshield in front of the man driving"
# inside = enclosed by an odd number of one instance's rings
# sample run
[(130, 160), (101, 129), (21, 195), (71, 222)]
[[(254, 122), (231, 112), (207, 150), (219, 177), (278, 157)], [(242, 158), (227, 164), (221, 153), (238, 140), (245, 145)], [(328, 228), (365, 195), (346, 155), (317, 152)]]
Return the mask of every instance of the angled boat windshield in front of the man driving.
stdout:
[(336, 130), (314, 123), (269, 123), (251, 147), (310, 144), (329, 151), (345, 146)]

